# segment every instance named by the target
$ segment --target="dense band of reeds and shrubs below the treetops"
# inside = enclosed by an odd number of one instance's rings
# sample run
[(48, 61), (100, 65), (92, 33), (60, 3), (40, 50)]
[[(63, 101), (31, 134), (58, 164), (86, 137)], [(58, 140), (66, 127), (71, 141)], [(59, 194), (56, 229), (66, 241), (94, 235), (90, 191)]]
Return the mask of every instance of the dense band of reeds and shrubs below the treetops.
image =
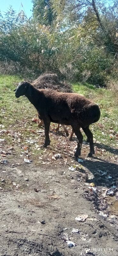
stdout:
[[(105, 85), (113, 73), (117, 78), (117, 59), (104, 45), (97, 45), (92, 28), (85, 33), (84, 23), (65, 26), (55, 20), (45, 26), (27, 20), (23, 13), (17, 17), (12, 9), (9, 12), (0, 22), (0, 72), (33, 76), (55, 72), (68, 80), (99, 85)], [(8, 64), (13, 68), (7, 69)]]

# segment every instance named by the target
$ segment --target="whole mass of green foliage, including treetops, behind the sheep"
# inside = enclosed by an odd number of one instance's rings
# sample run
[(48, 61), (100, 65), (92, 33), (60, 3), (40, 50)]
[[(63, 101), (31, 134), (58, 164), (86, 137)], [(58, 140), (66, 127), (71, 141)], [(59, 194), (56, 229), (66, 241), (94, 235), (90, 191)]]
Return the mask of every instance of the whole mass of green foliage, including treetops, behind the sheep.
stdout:
[[(54, 3), (56, 10), (56, 0)], [(116, 33), (116, 11), (109, 9), (106, 15), (101, 12), (99, 20), (88, 5), (81, 21), (82, 11), (78, 10), (79, 20), (70, 22), (64, 3), (58, 7), (62, 8), (59, 9), (62, 21), (59, 21), (59, 10), (53, 19), (54, 5), (48, 0), (33, 0), (33, 19), (28, 20), (24, 12), (17, 15), (11, 7), (5, 17), (0, 15), (0, 63), (14, 63), (15, 72), (17, 65), (19, 72), (27, 69), (39, 75), (51, 71), (68, 80), (99, 85), (106, 85), (113, 76), (118, 79), (117, 56), (114, 57), (110, 41), (110, 33), (112, 39)], [(50, 20), (46, 10), (53, 10)]]

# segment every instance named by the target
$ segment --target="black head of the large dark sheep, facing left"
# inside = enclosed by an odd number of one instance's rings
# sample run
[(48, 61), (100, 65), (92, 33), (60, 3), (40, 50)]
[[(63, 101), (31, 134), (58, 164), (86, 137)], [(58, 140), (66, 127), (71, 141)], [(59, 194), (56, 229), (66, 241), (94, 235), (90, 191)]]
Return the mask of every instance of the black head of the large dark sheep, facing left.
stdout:
[(31, 94), (31, 84), (24, 81), (20, 82), (17, 86), (17, 88), (14, 90), (16, 98), (19, 98), (20, 96), (27, 96), (27, 94), (30, 96)]

